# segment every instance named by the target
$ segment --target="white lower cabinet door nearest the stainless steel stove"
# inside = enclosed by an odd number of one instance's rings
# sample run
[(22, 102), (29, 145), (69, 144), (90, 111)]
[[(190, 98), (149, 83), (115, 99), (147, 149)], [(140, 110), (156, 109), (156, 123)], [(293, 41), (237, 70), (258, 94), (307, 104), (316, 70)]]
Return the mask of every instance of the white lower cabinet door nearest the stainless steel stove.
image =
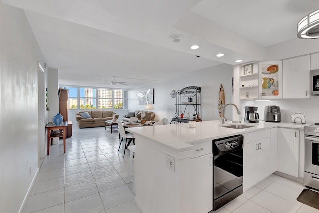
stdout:
[(278, 127), (277, 170), (298, 177), (299, 130)]

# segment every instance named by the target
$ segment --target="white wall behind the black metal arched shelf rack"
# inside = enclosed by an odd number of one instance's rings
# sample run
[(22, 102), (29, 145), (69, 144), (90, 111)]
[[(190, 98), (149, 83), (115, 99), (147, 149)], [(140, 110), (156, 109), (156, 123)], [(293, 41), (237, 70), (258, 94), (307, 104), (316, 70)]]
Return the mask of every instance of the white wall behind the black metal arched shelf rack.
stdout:
[[(176, 98), (171, 98), (170, 92), (180, 90), (188, 86), (199, 86), (202, 88), (202, 115), (203, 121), (219, 119), (218, 113), (218, 90), (220, 84), (225, 90), (225, 102), (232, 102), (231, 78), (233, 77), (233, 66), (221, 64), (207, 69), (191, 72), (176, 78), (161, 80), (148, 85), (131, 88), (128, 91), (128, 110), (142, 110), (146, 105), (138, 104), (137, 93), (148, 88), (154, 88), (154, 108), (155, 119), (161, 120), (174, 117), (176, 111)], [(189, 114), (193, 110), (189, 108)], [(226, 111), (226, 110), (225, 110)], [(186, 111), (187, 114), (187, 111)], [(226, 117), (231, 117), (231, 110), (226, 111)]]

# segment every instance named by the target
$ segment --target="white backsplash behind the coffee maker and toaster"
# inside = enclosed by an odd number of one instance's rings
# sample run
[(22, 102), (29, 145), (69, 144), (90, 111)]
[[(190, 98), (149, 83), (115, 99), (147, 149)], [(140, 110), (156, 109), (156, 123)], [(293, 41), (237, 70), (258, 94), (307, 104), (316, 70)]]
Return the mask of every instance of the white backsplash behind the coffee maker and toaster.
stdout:
[[(319, 97), (312, 96), (310, 99), (281, 99), (272, 101), (241, 100), (240, 111), (245, 112), (244, 106), (257, 106), (261, 120), (264, 119), (265, 106), (276, 105), (280, 107), (283, 122), (292, 122), (291, 115), (297, 112), (306, 116), (306, 124), (319, 122)], [(244, 116), (244, 113), (242, 113)], [(242, 120), (244, 118), (242, 117)]]

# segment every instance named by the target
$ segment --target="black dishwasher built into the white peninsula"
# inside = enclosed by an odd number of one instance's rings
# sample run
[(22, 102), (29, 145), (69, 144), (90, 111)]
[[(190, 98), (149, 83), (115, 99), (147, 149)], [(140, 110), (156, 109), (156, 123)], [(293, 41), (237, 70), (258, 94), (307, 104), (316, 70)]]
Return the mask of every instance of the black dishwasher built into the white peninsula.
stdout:
[(243, 193), (243, 139), (213, 140), (213, 211)]

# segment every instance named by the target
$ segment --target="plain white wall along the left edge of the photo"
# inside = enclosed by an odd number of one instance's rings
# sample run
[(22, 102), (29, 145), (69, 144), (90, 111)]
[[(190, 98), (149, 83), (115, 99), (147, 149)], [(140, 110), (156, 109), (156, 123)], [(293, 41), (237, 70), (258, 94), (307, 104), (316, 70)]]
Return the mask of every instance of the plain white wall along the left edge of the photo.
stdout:
[(0, 211), (17, 213), (37, 171), (37, 72), (44, 57), (23, 10), (0, 1), (0, 29)]

